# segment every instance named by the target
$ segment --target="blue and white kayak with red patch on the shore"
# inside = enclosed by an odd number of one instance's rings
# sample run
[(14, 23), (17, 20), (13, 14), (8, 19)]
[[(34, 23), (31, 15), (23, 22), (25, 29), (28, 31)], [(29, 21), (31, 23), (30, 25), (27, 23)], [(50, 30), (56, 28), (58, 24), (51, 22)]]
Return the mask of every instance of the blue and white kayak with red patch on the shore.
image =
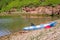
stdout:
[(42, 28), (51, 28), (54, 27), (56, 25), (56, 21), (47, 23), (47, 24), (40, 24), (40, 25), (36, 25), (36, 26), (28, 26), (28, 27), (24, 27), (23, 30), (38, 30), (38, 29), (42, 29)]

